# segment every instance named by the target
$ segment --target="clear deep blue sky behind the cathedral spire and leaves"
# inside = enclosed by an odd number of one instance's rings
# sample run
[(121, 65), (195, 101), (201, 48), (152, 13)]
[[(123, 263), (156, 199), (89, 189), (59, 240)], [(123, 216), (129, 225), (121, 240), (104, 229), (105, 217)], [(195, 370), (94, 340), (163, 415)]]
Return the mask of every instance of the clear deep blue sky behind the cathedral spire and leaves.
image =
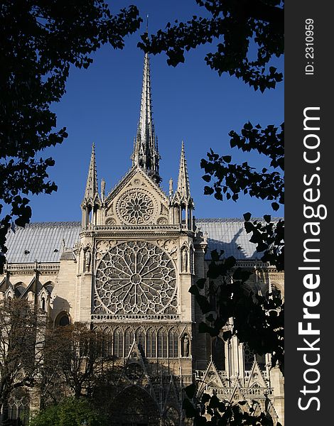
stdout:
[[(113, 11), (135, 3), (146, 20), (149, 32), (164, 28), (168, 21), (185, 21), (203, 8), (195, 0), (110, 1)], [(200, 11), (200, 12), (199, 12)], [(80, 203), (85, 191), (92, 143), (97, 156), (97, 177), (106, 180), (109, 191), (131, 167), (131, 151), (139, 119), (144, 54), (136, 47), (141, 30), (126, 38), (124, 50), (102, 47), (94, 55), (88, 70), (70, 70), (67, 92), (53, 105), (58, 128), (66, 126), (69, 136), (62, 145), (43, 152), (55, 158), (51, 180), (58, 191), (52, 195), (30, 197), (33, 222), (81, 219)], [(217, 42), (218, 43), (218, 42)], [(257, 156), (230, 149), (230, 130), (253, 124), (279, 125), (284, 120), (284, 87), (261, 94), (235, 77), (216, 72), (205, 64), (205, 53), (215, 44), (201, 46), (185, 55), (185, 64), (169, 67), (166, 55), (151, 56), (153, 120), (161, 153), (160, 172), (163, 190), (168, 180), (177, 181), (181, 141), (185, 142), (190, 190), (195, 202), (195, 217), (242, 217), (283, 215), (272, 212), (270, 204), (243, 197), (237, 203), (219, 202), (203, 195), (205, 182), (200, 159), (212, 148), (220, 154), (232, 154), (232, 160), (257, 164)], [(283, 61), (274, 65), (283, 67)]]

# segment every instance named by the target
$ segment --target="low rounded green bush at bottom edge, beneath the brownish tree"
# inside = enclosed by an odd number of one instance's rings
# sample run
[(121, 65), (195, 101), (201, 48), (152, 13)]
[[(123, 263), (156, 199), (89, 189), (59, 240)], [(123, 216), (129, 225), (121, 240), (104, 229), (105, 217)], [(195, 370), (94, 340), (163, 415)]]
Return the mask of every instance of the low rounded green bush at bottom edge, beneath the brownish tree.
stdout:
[(102, 413), (87, 398), (65, 398), (57, 405), (41, 410), (31, 420), (31, 426), (107, 426)]

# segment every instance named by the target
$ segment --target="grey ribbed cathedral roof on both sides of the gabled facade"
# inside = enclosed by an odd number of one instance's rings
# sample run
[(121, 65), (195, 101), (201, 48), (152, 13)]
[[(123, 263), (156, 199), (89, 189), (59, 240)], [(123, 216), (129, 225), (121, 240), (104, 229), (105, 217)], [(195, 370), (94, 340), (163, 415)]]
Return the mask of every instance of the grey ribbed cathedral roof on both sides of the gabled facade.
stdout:
[[(261, 258), (255, 244), (249, 242), (250, 235), (244, 230), (242, 219), (196, 219), (200, 231), (208, 234), (208, 251), (224, 250), (224, 255), (238, 260)], [(80, 222), (36, 222), (7, 234), (6, 258), (9, 263), (59, 262), (65, 246), (70, 248), (79, 241)], [(70, 253), (64, 253), (70, 256)], [(70, 256), (71, 257), (71, 256)]]

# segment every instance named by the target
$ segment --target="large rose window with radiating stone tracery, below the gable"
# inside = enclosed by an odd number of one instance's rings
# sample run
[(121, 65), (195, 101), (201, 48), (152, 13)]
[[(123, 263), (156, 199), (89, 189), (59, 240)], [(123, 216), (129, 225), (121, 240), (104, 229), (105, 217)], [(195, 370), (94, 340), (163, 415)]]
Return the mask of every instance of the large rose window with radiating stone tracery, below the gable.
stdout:
[(146, 241), (114, 246), (97, 266), (95, 313), (175, 314), (176, 271), (166, 251)]

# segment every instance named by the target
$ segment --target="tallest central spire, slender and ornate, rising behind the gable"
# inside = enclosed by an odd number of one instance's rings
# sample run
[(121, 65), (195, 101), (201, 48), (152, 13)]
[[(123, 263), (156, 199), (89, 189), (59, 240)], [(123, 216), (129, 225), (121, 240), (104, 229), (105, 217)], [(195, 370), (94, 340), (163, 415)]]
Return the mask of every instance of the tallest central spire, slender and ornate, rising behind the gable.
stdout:
[(161, 182), (159, 176), (158, 142), (154, 132), (151, 105), (151, 77), (149, 54), (144, 57), (143, 87), (141, 89), (140, 117), (137, 128), (134, 153), (131, 156), (132, 165), (139, 165), (156, 182)]

